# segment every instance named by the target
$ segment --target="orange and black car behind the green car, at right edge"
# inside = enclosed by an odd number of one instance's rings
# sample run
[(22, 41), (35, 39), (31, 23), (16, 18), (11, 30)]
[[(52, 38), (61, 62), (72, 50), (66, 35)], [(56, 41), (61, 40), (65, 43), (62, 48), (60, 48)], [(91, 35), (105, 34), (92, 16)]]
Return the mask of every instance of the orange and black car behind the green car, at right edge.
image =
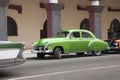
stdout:
[(120, 53), (120, 39), (105, 40), (109, 44), (109, 49), (106, 50), (107, 53)]

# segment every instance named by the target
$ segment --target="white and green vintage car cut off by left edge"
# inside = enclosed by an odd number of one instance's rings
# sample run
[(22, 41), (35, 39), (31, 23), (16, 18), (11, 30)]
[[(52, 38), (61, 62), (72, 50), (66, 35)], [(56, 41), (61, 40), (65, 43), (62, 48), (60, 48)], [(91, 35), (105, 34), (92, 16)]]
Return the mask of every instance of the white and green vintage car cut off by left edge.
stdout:
[(23, 42), (0, 41), (0, 68), (24, 63), (24, 45)]

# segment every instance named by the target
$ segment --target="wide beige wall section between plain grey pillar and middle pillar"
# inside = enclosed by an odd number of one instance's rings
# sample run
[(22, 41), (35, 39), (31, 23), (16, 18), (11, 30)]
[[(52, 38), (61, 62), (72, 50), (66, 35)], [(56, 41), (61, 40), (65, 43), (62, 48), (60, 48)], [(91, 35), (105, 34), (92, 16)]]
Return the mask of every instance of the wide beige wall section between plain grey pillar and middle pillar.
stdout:
[[(45, 0), (41, 0), (45, 2)], [(46, 1), (47, 2), (47, 1)], [(8, 9), (8, 16), (15, 19), (18, 26), (18, 36), (11, 36), (10, 41), (22, 41), (30, 48), (32, 43), (40, 39), (40, 29), (46, 18), (46, 10), (39, 7), (39, 0), (11, 0), (10, 4), (22, 5), (22, 14)]]

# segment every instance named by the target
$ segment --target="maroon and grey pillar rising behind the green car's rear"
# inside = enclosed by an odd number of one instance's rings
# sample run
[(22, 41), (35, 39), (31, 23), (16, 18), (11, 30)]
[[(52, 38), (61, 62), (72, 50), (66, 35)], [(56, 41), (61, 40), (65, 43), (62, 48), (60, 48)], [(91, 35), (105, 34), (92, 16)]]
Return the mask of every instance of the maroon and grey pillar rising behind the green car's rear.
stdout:
[(102, 38), (101, 13), (104, 6), (88, 6), (89, 11), (89, 28), (97, 38)]

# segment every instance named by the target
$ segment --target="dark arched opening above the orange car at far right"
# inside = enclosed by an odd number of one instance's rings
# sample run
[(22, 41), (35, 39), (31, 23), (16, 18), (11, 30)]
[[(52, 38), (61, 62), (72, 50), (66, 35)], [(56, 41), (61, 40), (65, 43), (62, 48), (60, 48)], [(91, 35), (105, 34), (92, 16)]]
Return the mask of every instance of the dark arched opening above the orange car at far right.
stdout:
[(113, 19), (108, 29), (108, 39), (118, 38), (120, 38), (120, 22), (117, 19)]

